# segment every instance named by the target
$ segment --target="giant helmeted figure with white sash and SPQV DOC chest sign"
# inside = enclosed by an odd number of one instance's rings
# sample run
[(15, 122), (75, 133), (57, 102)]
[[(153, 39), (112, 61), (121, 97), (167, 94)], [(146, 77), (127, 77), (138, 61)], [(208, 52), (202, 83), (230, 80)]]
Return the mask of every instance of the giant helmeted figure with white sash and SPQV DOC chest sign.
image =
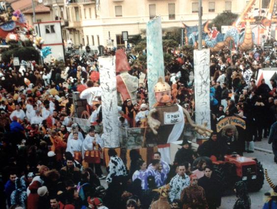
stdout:
[(158, 135), (157, 144), (166, 144), (182, 138), (185, 117), (197, 133), (203, 136), (210, 136), (212, 130), (208, 129), (207, 124), (195, 124), (189, 112), (178, 104), (171, 103), (171, 88), (159, 78), (155, 85), (155, 98), (157, 103), (149, 112), (147, 117), (149, 127), (155, 135)]

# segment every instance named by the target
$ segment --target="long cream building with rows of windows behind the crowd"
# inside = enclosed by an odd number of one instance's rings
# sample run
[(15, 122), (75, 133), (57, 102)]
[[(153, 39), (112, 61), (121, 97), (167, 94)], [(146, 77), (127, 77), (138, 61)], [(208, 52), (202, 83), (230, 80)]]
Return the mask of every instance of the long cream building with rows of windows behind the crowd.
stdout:
[[(247, 0), (202, 0), (202, 20), (211, 20), (223, 11), (241, 13)], [(121, 46), (122, 31), (129, 37), (144, 34), (146, 23), (162, 17), (163, 29), (197, 25), (198, 0), (43, 0), (53, 20), (61, 20), (64, 40), (75, 46)]]

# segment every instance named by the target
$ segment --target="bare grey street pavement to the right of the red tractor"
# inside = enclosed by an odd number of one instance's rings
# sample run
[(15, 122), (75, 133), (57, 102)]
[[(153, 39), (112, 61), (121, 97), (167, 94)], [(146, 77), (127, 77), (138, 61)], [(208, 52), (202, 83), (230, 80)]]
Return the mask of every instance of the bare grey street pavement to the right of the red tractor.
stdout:
[[(267, 143), (266, 139), (262, 142), (255, 142), (257, 148), (267, 149), (271, 151), (271, 145)], [(254, 153), (246, 153), (245, 156), (256, 157), (263, 165), (263, 168), (268, 170), (270, 178), (277, 184), (277, 164), (273, 160), (273, 154), (255, 150)], [(270, 190), (267, 181), (264, 181), (263, 188), (259, 192), (250, 193), (251, 209), (262, 209), (264, 193)], [(222, 206), (220, 209), (232, 209), (236, 201), (235, 193), (222, 198)]]

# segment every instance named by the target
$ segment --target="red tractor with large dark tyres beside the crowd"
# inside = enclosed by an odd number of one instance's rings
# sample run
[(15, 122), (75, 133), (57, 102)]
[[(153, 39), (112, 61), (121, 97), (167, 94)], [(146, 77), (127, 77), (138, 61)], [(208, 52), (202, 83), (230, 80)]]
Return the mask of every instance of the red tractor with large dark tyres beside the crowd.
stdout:
[(212, 163), (225, 188), (232, 188), (239, 180), (246, 182), (249, 191), (258, 191), (264, 184), (264, 169), (256, 158), (240, 156), (234, 152), (225, 155), (224, 161)]

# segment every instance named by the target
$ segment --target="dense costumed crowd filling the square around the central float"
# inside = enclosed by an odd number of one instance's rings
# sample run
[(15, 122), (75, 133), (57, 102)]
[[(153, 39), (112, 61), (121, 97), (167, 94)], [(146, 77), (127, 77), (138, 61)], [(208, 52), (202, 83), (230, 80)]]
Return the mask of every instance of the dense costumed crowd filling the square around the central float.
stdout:
[[(114, 51), (106, 50), (104, 54), (114, 55)], [(165, 78), (172, 87), (172, 102), (182, 105), (194, 117), (192, 58), (173, 50), (172, 54), (174, 60)], [(72, 93), (81, 85), (99, 86), (99, 81), (91, 81), (91, 74), (99, 71), (97, 56), (73, 56), (64, 67), (56, 65), (55, 60), (43, 65), (31, 62), (20, 68), (12, 62), (1, 62), (0, 208), (7, 205), (23, 209), (148, 209), (159, 198), (153, 189), (166, 183), (171, 186), (166, 201), (173, 208), (219, 207), (222, 193), (217, 188), (221, 182), (216, 180), (208, 161), (198, 157), (214, 155), (220, 159), (232, 151), (253, 152), (254, 141), (269, 135), (277, 119), (277, 76), (266, 84), (263, 79), (257, 81), (256, 75), (260, 69), (274, 66), (275, 61), (275, 50), (265, 52), (259, 47), (248, 53), (230, 53), (226, 48), (212, 53), (211, 128), (216, 132), (220, 119), (236, 116), (246, 121), (247, 130), (233, 127), (214, 134), (199, 147), (198, 153), (184, 140), (173, 165), (162, 161), (159, 152), (147, 165), (134, 150), (132, 156), (130, 152), (131, 167), (127, 169), (126, 162), (109, 149), (107, 177), (103, 166), (104, 140), (94, 126), (102, 123), (101, 97), (87, 133), (72, 120), (76, 116)], [(140, 78), (141, 73), (133, 68), (130, 74)], [(137, 103), (124, 101), (119, 126), (146, 126), (148, 110), (145, 78), (139, 83)], [(216, 141), (226, 149), (211, 153), (213, 146), (222, 146)], [(193, 166), (195, 160), (197, 166)], [(245, 187), (244, 183), (237, 186)], [(250, 207), (249, 198), (245, 200), (244, 206)], [(241, 209), (240, 205), (234, 208)]]

